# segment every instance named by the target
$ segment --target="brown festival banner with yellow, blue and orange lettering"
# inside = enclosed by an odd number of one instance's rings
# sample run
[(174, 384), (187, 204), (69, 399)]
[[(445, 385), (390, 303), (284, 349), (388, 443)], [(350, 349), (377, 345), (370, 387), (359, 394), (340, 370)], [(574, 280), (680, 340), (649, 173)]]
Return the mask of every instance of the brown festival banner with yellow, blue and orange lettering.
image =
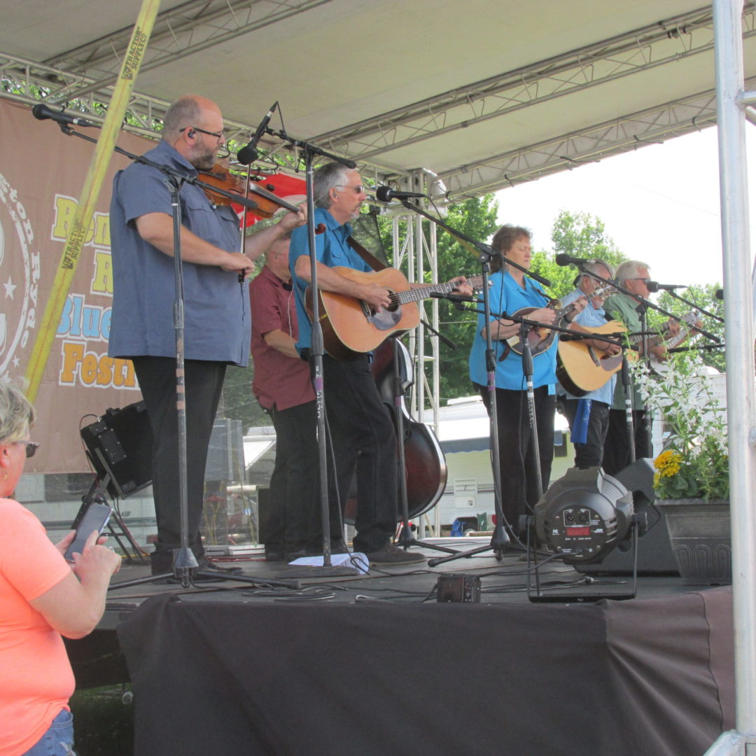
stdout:
[[(76, 127), (98, 136), (96, 129)], [(31, 107), (0, 99), (0, 376), (24, 375), (95, 144), (38, 121)], [(121, 134), (141, 154), (154, 143)], [(109, 407), (139, 401), (131, 361), (107, 356), (113, 278), (109, 207), (114, 154), (35, 401), (26, 472), (86, 472), (79, 428)]]

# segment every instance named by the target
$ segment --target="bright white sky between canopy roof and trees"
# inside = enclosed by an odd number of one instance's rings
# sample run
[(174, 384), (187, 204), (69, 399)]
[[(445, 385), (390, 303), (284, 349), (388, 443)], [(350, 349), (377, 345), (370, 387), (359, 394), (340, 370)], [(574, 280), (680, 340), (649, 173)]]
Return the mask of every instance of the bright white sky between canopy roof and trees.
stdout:
[[(753, 249), (756, 127), (746, 127)], [(500, 223), (530, 228), (534, 249), (553, 252), (551, 228), (560, 211), (588, 212), (603, 221), (606, 235), (622, 253), (651, 265), (654, 280), (723, 280), (714, 128), (519, 184), (496, 196)]]

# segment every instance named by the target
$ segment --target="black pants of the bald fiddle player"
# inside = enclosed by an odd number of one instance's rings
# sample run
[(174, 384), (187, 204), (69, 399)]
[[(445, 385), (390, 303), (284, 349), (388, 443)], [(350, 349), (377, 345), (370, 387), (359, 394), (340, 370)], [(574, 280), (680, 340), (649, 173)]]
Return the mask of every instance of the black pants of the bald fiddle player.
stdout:
[[(135, 357), (132, 360), (153, 432), (152, 490), (157, 518), (155, 552), (169, 552), (181, 546), (176, 362), (168, 357)], [(197, 556), (203, 553), (200, 522), (207, 448), (225, 372), (225, 362), (184, 362), (188, 535), (189, 545)]]

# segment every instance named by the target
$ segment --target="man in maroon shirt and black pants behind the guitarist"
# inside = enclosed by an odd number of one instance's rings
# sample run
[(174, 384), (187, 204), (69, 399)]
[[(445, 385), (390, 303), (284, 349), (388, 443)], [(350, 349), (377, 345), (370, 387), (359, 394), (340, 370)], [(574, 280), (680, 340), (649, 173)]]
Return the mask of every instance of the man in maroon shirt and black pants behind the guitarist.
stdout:
[[(268, 247), (265, 267), (249, 284), (255, 363), (252, 389), (276, 429), (265, 542), (268, 561), (322, 553), (315, 394), (310, 366), (294, 347), (299, 333), (289, 243), (290, 234)], [(338, 530), (332, 537), (334, 549), (342, 550)]]

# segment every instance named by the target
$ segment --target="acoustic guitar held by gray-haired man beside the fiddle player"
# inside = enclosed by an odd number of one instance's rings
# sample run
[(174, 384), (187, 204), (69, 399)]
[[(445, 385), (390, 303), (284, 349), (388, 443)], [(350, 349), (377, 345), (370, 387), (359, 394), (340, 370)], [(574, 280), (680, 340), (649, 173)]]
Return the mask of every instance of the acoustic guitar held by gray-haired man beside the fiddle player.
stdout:
[[(357, 283), (375, 283), (388, 289), (391, 305), (380, 312), (373, 312), (367, 302), (352, 296), (330, 291), (319, 293), (321, 327), (326, 351), (337, 360), (353, 360), (372, 352), (389, 336), (405, 333), (420, 323), (420, 308), (417, 302), (428, 299), (432, 293), (449, 293), (457, 283), (432, 283), (417, 289), (396, 268), (365, 273), (352, 268), (332, 268), (339, 275)], [(473, 289), (480, 288), (481, 276), (469, 278)], [(307, 313), (312, 318), (312, 287), (305, 292)]]

